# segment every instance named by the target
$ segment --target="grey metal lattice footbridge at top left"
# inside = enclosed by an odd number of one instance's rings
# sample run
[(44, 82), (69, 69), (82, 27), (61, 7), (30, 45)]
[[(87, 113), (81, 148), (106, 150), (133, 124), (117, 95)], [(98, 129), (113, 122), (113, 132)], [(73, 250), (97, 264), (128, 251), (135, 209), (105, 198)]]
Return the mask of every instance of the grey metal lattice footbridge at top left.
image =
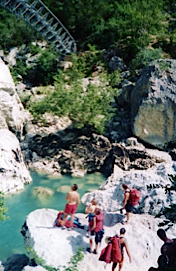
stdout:
[(0, 6), (35, 28), (63, 55), (76, 52), (76, 42), (41, 0), (0, 0)]

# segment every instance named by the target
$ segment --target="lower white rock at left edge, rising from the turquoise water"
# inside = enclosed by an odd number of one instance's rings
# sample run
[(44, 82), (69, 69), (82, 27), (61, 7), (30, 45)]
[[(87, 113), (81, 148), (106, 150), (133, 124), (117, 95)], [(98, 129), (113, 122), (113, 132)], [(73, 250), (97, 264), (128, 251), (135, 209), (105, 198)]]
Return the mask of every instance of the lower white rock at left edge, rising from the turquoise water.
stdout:
[(15, 193), (31, 181), (18, 139), (9, 130), (0, 129), (0, 191)]

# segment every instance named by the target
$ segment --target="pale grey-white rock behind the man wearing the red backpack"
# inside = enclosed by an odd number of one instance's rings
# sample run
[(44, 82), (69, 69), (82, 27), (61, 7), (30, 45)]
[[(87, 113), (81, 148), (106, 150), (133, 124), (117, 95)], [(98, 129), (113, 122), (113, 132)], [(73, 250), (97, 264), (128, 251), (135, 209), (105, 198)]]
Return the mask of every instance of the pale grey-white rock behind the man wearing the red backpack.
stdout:
[(176, 162), (160, 163), (147, 170), (129, 172), (115, 166), (113, 174), (101, 185), (100, 189), (84, 194), (81, 200), (83, 204), (86, 204), (95, 197), (103, 210), (115, 212), (122, 207), (124, 194), (122, 183), (127, 183), (129, 187), (136, 187), (142, 193), (140, 204), (137, 206), (138, 211), (155, 215), (163, 207), (176, 203), (175, 191), (171, 191), (170, 195), (165, 193), (165, 187), (171, 185), (168, 174), (175, 175), (175, 173)]

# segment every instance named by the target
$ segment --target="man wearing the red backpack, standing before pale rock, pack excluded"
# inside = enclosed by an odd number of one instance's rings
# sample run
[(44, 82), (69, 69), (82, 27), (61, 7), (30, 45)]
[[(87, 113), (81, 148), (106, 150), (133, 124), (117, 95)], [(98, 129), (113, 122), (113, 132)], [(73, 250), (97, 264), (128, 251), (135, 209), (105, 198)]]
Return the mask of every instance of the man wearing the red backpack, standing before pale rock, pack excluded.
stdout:
[(130, 204), (130, 188), (128, 187), (126, 183), (122, 184), (122, 188), (125, 190), (125, 192), (124, 192), (124, 199), (123, 199), (123, 207), (121, 208), (120, 211), (122, 213), (123, 209), (126, 210), (127, 220), (123, 222), (123, 224), (125, 224), (125, 223), (128, 223), (130, 219), (130, 213), (133, 210), (133, 205)]

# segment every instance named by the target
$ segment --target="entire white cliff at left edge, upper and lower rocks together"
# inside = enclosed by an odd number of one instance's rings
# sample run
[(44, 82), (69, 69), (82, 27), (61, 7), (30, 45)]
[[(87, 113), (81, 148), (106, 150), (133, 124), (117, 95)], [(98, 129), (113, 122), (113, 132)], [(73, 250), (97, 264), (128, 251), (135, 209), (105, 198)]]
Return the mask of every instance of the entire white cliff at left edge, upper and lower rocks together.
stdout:
[(14, 193), (32, 181), (21, 153), (25, 111), (8, 67), (0, 59), (0, 191)]

